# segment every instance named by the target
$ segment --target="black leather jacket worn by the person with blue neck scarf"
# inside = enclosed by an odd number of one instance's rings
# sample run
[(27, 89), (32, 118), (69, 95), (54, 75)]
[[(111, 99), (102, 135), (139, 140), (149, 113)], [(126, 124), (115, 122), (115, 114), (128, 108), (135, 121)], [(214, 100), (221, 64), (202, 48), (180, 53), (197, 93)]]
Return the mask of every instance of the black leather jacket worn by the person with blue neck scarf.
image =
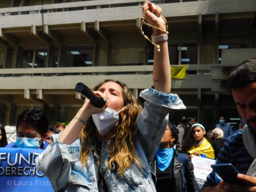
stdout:
[[(184, 175), (182, 172), (182, 167), (184, 164), (178, 160), (178, 151), (174, 150), (174, 159), (172, 161), (173, 165), (173, 177), (175, 179), (175, 187), (176, 192), (184, 192)], [(152, 175), (152, 179), (154, 183), (156, 184), (157, 178), (156, 178), (156, 159), (154, 158), (153, 161), (150, 163), (150, 171)], [(199, 192), (199, 189), (197, 187), (197, 183), (194, 177), (194, 166), (191, 162), (191, 158), (187, 155), (186, 161), (185, 161), (185, 177), (187, 179), (187, 191), (188, 192)]]

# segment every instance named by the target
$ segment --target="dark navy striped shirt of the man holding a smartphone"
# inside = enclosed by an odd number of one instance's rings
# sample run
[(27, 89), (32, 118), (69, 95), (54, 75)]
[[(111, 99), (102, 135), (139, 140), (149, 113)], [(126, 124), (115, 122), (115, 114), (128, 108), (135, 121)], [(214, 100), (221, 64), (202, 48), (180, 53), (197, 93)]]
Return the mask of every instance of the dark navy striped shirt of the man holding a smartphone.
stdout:
[[(243, 129), (237, 130), (226, 140), (216, 159), (216, 164), (230, 163), (240, 174), (246, 174), (254, 159), (245, 148), (242, 131)], [(204, 183), (202, 189), (207, 186), (214, 187), (216, 185), (214, 171), (212, 171), (207, 176), (207, 181)]]

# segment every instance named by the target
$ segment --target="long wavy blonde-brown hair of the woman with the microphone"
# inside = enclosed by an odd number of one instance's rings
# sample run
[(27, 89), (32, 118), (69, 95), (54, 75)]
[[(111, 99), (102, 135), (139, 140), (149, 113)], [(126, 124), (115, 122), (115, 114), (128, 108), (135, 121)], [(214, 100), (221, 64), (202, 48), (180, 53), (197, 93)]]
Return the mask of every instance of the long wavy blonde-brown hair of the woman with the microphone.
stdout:
[[(120, 82), (114, 80), (103, 80), (94, 87), (94, 91), (98, 90), (106, 82), (115, 82), (123, 89), (122, 95), (124, 100), (124, 109), (121, 111), (121, 118), (119, 123), (114, 126), (110, 133), (110, 144), (107, 146), (107, 153), (110, 156), (108, 160), (108, 167), (112, 169), (114, 163), (118, 165), (117, 174), (122, 175), (123, 172), (132, 165), (135, 161), (141, 167), (141, 162), (137, 158), (134, 152), (134, 140), (133, 136), (138, 133), (138, 127), (136, 125), (136, 119), (142, 110), (142, 107), (136, 101), (132, 92), (128, 87)], [(86, 164), (89, 154), (91, 152), (90, 144), (94, 144), (94, 150), (96, 149), (96, 127), (90, 117), (79, 135), (81, 142), (80, 160), (83, 165)], [(97, 165), (100, 164), (100, 155)]]

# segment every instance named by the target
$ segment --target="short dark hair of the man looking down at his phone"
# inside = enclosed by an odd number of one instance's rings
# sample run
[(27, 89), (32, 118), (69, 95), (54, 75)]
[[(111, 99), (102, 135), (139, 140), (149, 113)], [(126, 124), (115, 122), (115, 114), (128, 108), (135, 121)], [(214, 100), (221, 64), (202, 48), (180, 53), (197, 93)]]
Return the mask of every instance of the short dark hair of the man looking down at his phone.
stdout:
[(231, 71), (228, 78), (229, 91), (242, 89), (252, 81), (256, 81), (256, 58), (245, 60)]

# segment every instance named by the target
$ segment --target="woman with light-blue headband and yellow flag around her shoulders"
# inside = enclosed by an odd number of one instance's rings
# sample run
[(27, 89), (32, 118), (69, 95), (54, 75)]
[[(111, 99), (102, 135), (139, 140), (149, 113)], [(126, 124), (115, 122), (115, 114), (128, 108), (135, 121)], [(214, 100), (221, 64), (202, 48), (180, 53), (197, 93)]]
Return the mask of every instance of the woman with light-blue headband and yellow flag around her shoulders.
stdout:
[(199, 123), (193, 124), (182, 146), (183, 152), (203, 158), (214, 159), (213, 147), (204, 137), (205, 134), (206, 130), (203, 125)]

